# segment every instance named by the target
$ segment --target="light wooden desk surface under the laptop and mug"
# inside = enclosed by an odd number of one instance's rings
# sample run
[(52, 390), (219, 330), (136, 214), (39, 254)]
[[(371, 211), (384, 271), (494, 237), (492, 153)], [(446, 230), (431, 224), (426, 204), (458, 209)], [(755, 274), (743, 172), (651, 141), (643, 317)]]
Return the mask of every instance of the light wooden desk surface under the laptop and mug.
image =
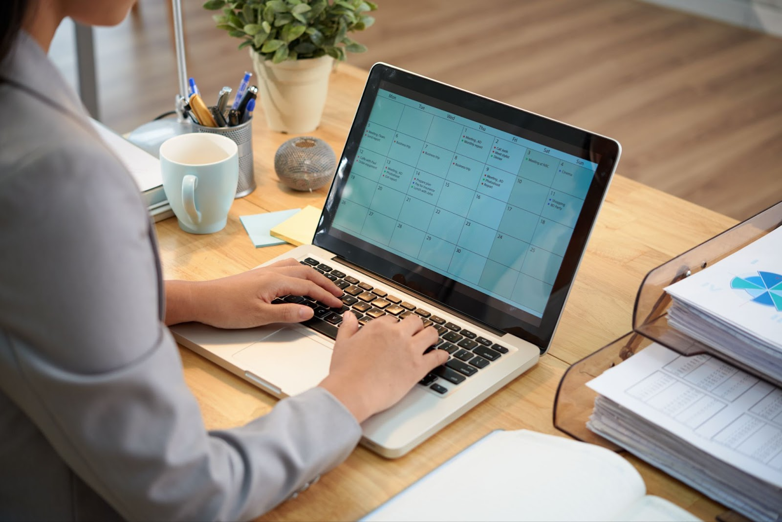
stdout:
[[(328, 141), (338, 155), (366, 77), (365, 71), (345, 64), (332, 75), (323, 121), (313, 134)], [(174, 219), (157, 224), (167, 278), (203, 280), (236, 274), (291, 248), (254, 248), (239, 222), (239, 216), (246, 214), (322, 206), (327, 188), (303, 193), (278, 182), (274, 152), (288, 138), (267, 130), (263, 116), (256, 119), (253, 145), (258, 188), (234, 203), (223, 231), (196, 236), (179, 230)], [(615, 177), (551, 351), (537, 366), (401, 459), (387, 460), (367, 449), (356, 449), (316, 486), (261, 520), (356, 520), (489, 431), (528, 428), (561, 434), (552, 425), (551, 409), (557, 384), (569, 364), (630, 330), (633, 299), (648, 270), (734, 223), (726, 216)], [(274, 406), (270, 395), (206, 359), (187, 349), (181, 349), (181, 356), (207, 427), (245, 424)], [(651, 494), (676, 502), (704, 520), (713, 520), (723, 511), (691, 488), (638, 459), (629, 459)], [(462, 486), (469, 491), (468, 483)]]

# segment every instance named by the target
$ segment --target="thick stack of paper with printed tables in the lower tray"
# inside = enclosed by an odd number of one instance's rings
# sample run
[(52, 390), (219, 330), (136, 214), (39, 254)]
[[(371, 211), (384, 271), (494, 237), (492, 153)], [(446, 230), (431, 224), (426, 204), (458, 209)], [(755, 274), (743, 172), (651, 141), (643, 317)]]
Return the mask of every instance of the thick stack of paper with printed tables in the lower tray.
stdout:
[(587, 385), (587, 427), (752, 520), (782, 520), (782, 390), (661, 345)]

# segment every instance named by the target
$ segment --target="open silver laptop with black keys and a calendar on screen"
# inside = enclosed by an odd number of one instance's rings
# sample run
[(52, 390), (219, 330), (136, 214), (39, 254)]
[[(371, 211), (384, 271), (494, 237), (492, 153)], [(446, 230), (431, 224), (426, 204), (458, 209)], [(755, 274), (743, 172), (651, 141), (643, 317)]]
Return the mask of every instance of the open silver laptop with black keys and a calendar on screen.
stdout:
[[(362, 444), (403, 456), (533, 366), (551, 345), (619, 143), (385, 63), (371, 68), (310, 245), (287, 257), (342, 288), (303, 324), (171, 328), (274, 397), (328, 374), (341, 313), (416, 314), (450, 354)], [(266, 263), (266, 264), (269, 264)]]

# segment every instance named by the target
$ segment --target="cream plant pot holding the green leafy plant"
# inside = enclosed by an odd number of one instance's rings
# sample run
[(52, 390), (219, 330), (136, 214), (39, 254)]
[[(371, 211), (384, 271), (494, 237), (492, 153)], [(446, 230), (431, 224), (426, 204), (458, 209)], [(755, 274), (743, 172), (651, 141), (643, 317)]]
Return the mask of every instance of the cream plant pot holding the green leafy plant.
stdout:
[(290, 134), (315, 130), (321, 123), (334, 59), (327, 55), (272, 63), (252, 48), (249, 55), (258, 76), (258, 95), (269, 128)]

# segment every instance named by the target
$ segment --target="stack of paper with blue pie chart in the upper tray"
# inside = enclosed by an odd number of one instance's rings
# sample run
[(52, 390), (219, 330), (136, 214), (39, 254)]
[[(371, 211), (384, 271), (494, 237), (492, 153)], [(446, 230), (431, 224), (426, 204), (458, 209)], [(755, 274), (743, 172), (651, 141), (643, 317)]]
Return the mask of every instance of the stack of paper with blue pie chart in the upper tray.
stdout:
[(671, 327), (782, 383), (782, 227), (665, 291)]

